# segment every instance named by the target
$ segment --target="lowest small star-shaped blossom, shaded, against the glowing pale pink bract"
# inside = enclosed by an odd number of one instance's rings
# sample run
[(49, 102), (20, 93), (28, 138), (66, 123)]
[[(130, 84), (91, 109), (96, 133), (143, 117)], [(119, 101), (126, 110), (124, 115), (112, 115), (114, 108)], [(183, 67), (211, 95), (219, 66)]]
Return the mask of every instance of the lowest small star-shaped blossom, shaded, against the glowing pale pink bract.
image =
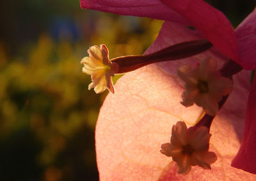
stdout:
[(161, 145), (160, 152), (172, 157), (177, 162), (178, 173), (186, 175), (191, 166), (211, 169), (211, 164), (217, 160), (214, 152), (209, 150), (209, 129), (207, 127), (189, 127), (184, 122), (177, 122), (172, 127), (171, 143)]

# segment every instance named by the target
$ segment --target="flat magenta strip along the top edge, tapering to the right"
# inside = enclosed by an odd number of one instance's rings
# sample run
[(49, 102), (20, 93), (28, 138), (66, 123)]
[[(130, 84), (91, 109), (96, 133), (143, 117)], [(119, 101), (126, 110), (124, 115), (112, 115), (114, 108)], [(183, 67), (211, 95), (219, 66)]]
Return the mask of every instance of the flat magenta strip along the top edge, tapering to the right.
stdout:
[(156, 0), (80, 0), (80, 4), (84, 9), (116, 13), (119, 15), (150, 17), (189, 25), (188, 20)]

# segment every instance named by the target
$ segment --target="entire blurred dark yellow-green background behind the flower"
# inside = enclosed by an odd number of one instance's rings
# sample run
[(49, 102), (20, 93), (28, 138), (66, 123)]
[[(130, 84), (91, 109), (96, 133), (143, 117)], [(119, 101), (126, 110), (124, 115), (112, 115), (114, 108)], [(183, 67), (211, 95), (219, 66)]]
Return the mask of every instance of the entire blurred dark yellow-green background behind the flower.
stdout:
[[(256, 5), (208, 2), (234, 27)], [(102, 43), (111, 58), (142, 54), (163, 22), (81, 10), (79, 0), (11, 0), (0, 23), (0, 180), (99, 180), (94, 130), (108, 91), (88, 91), (80, 61)]]

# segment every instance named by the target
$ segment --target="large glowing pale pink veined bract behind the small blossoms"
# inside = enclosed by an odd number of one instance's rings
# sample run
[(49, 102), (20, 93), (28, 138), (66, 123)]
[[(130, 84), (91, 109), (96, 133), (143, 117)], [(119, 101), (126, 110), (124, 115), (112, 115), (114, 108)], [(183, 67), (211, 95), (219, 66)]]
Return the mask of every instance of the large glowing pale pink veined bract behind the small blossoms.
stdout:
[[(191, 29), (165, 23), (147, 52), (197, 37)], [(180, 104), (183, 86), (177, 77), (178, 68), (184, 61), (193, 66), (210, 55), (214, 56), (207, 51), (189, 59), (148, 65), (117, 81), (115, 95), (109, 94), (100, 109), (95, 130), (101, 180), (255, 179), (254, 175), (230, 166), (240, 146), (239, 130), (243, 127), (243, 108), (248, 96), (245, 80), (250, 75), (244, 71), (234, 76), (234, 90), (212, 123), (209, 150), (218, 154), (219, 159), (211, 165), (211, 170), (196, 166), (188, 175), (178, 175), (171, 159), (159, 152), (161, 145), (170, 141), (173, 124), (184, 120), (191, 126), (202, 113), (200, 107), (186, 108)], [(220, 59), (218, 64), (222, 63)]]

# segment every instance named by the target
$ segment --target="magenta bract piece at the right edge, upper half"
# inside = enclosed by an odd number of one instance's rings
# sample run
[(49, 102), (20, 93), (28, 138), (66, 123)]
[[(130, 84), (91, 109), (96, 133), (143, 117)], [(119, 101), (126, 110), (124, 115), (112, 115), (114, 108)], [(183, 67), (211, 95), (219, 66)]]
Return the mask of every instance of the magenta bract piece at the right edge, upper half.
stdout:
[(256, 68), (256, 8), (236, 29), (239, 58), (243, 68)]

